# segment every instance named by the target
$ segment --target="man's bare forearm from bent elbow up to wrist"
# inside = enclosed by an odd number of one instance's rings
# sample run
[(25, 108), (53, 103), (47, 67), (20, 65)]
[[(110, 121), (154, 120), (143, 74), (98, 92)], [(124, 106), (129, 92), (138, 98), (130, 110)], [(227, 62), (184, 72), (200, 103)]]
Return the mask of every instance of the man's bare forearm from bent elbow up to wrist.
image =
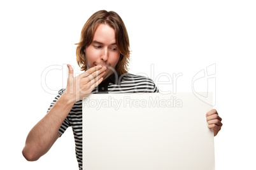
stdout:
[(46, 154), (55, 142), (59, 128), (73, 107), (66, 94), (60, 96), (48, 114), (31, 129), (22, 151), (27, 160), (37, 160)]

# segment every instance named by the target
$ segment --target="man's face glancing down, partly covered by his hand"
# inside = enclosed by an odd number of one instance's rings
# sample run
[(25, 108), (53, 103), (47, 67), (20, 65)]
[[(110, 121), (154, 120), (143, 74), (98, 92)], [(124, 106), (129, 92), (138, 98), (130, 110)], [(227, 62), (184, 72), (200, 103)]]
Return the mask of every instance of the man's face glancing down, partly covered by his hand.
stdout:
[[(87, 69), (96, 65), (107, 66), (106, 79), (113, 73), (120, 58), (120, 51), (115, 41), (115, 30), (107, 24), (99, 24), (92, 39), (92, 43), (84, 49)], [(111, 69), (113, 68), (113, 69)]]

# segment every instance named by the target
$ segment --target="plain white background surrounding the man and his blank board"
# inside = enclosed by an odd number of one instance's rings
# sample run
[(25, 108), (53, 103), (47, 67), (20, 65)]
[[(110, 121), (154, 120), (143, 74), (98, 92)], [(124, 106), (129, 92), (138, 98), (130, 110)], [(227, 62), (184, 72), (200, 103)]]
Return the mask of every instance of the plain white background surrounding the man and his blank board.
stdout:
[[(224, 124), (215, 136), (216, 169), (255, 169), (255, 8), (254, 1), (224, 0), (1, 1), (0, 169), (78, 169), (71, 128), (36, 162), (27, 162), (22, 148), (65, 88), (66, 64), (81, 73), (75, 43), (90, 15), (103, 9), (116, 11), (127, 27), (129, 72), (148, 75), (162, 91), (173, 84), (157, 82), (157, 75), (182, 73), (176, 91), (191, 92), (194, 75), (216, 65), (216, 84), (209, 86)], [(206, 78), (197, 91), (207, 86)]]

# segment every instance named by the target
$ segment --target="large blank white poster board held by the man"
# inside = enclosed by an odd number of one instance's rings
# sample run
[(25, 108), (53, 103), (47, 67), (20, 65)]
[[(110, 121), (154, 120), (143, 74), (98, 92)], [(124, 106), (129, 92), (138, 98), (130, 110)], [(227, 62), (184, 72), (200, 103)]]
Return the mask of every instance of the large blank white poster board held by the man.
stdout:
[(83, 98), (83, 169), (213, 170), (211, 108), (193, 93)]

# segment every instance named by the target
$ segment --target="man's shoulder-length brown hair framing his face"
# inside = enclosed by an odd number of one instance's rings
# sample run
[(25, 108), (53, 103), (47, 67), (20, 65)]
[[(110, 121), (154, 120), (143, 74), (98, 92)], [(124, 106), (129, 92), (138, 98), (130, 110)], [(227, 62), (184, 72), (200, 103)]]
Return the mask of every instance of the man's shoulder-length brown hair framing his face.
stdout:
[(120, 51), (120, 58), (115, 70), (119, 75), (127, 73), (130, 60), (129, 37), (122, 18), (114, 11), (97, 11), (83, 25), (80, 42), (76, 44), (78, 45), (76, 48), (76, 62), (81, 67), (81, 70), (87, 70), (83, 50), (92, 43), (94, 33), (100, 23), (106, 23), (115, 30), (115, 39)]

